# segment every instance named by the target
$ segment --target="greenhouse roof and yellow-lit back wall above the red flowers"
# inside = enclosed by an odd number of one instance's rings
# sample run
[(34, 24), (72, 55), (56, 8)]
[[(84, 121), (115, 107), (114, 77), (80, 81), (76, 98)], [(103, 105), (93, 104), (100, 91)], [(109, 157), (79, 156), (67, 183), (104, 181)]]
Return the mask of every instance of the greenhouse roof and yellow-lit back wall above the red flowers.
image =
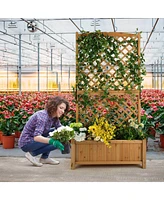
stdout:
[(163, 89), (163, 18), (0, 19), (0, 91), (71, 91), (76, 33), (141, 33), (144, 88)]

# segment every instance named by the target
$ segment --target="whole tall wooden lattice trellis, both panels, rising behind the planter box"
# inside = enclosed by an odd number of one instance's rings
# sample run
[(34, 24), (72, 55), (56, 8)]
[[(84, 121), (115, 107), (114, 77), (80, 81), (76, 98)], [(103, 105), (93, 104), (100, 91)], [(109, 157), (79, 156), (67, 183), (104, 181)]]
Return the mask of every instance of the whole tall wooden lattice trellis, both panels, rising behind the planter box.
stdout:
[[(87, 124), (93, 122), (96, 116), (103, 115), (112, 123), (122, 124), (130, 118), (140, 121), (140, 92), (136, 81), (140, 76), (137, 67), (139, 60), (133, 62), (135, 64), (133, 67), (130, 62), (130, 59), (136, 59), (140, 54), (140, 35), (103, 34), (109, 38), (104, 51), (98, 51), (92, 63), (88, 55), (83, 56), (80, 66), (77, 63), (76, 120)], [(77, 34), (77, 40), (79, 36)], [(116, 46), (117, 51), (114, 51)], [(90, 51), (92, 52), (92, 47)], [(77, 44), (77, 56), (80, 56), (79, 52)], [(109, 52), (110, 57), (105, 56)], [(104, 98), (103, 91), (106, 88), (109, 95)], [(126, 91), (130, 91), (133, 95), (128, 95)]]

